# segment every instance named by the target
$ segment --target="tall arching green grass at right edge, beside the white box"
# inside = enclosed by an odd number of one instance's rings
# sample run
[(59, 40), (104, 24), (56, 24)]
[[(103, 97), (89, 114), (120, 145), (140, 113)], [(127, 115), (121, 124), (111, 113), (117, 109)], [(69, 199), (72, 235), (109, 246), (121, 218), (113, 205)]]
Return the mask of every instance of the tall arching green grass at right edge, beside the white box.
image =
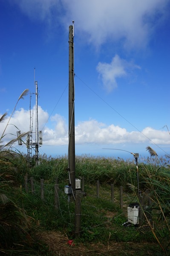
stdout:
[(142, 183), (150, 190), (151, 199), (153, 222), (147, 221), (158, 244), (166, 252), (170, 245), (170, 168), (152, 167), (144, 166), (142, 173)]

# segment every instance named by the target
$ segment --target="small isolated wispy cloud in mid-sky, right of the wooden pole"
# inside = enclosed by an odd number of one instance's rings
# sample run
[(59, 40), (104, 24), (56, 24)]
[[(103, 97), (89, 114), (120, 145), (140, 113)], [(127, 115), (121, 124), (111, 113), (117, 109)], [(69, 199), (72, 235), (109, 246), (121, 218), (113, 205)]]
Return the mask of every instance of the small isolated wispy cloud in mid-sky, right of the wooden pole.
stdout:
[(121, 59), (118, 55), (112, 58), (111, 63), (98, 63), (97, 71), (101, 76), (104, 87), (108, 92), (111, 92), (117, 87), (116, 79), (127, 76), (133, 69), (140, 68), (133, 64), (133, 62), (127, 62)]

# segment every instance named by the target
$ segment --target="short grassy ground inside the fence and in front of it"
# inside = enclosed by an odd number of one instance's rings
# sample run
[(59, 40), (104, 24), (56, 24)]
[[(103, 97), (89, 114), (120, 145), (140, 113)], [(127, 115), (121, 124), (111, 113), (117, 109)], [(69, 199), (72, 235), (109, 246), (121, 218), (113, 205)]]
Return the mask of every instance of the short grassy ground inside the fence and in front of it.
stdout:
[[(51, 255), (161, 255), (147, 225), (142, 228), (122, 226), (127, 220), (127, 205), (133, 198), (132, 194), (124, 193), (124, 208), (121, 210), (118, 188), (115, 188), (115, 204), (110, 201), (109, 185), (100, 187), (100, 198), (96, 198), (96, 186), (86, 185), (85, 190), (87, 195), (81, 201), (79, 238), (74, 234), (74, 203), (66, 203), (65, 197), (60, 209), (54, 212), (52, 207), (53, 212), (50, 212), (49, 202), (46, 201), (46, 206), (41, 201), (35, 204), (35, 195), (30, 196), (32, 209), (28, 205), (27, 212), (36, 222), (35, 236), (49, 247)], [(73, 240), (71, 245), (69, 240)]]

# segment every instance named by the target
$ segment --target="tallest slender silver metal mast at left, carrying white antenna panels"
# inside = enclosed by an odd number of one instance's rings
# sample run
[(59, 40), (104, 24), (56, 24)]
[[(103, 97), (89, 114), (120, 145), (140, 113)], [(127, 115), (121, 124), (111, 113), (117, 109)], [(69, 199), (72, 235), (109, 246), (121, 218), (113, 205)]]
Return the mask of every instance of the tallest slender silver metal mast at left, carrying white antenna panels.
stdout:
[(38, 86), (35, 81), (35, 165), (38, 165)]

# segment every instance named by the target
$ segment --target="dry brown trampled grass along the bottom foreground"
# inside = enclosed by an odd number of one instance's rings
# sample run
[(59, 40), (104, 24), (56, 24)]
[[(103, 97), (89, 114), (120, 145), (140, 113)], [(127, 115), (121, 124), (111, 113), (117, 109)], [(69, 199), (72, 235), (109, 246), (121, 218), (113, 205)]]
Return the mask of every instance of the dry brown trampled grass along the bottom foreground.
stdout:
[[(53, 256), (95, 256), (95, 255), (106, 255), (106, 256), (133, 256), (133, 255), (155, 255), (156, 252), (147, 250), (151, 244), (145, 243), (133, 243), (133, 242), (121, 242), (116, 243), (109, 241), (108, 243), (88, 243), (86, 245), (82, 243), (74, 243), (74, 245), (68, 244), (67, 235), (63, 235), (61, 232), (48, 231), (37, 234), (38, 239), (43, 241), (49, 247), (50, 252)], [(156, 247), (156, 244), (152, 244)]]

